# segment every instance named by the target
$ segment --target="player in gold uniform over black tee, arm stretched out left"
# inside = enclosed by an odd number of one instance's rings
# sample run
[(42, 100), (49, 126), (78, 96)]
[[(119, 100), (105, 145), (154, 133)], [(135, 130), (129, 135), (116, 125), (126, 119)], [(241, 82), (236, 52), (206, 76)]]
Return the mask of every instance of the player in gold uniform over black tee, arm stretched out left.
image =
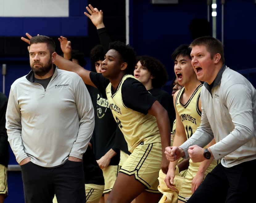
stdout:
[(118, 123), (131, 152), (118, 173), (108, 203), (158, 202), (158, 174), (167, 173), (169, 161), (164, 151), (170, 146), (170, 122), (167, 111), (134, 76), (127, 74), (135, 67), (133, 49), (122, 42), (110, 43), (102, 62), (101, 73), (57, 56), (59, 68), (74, 71), (86, 84), (105, 93), (109, 108)]

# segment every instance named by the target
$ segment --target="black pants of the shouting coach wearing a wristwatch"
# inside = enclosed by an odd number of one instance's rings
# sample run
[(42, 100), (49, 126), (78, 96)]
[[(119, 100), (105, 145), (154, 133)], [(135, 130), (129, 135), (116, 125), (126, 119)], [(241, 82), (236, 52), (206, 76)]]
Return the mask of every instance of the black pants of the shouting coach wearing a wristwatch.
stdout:
[(218, 164), (190, 197), (188, 203), (254, 202), (256, 159), (225, 168)]

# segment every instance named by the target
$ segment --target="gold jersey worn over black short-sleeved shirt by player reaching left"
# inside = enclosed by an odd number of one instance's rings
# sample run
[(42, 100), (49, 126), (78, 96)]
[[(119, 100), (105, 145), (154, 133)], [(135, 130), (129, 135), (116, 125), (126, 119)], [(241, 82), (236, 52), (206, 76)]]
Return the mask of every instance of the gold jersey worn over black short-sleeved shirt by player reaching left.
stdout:
[[(122, 84), (127, 78), (137, 80), (132, 75), (124, 76), (113, 95), (111, 92), (111, 83), (109, 83), (106, 88), (106, 95), (114, 119), (124, 135), (128, 150), (132, 153), (134, 148), (139, 144), (161, 142), (161, 138), (155, 116), (150, 114), (144, 115), (124, 105), (121, 89)], [(140, 105), (143, 105), (143, 103)]]

